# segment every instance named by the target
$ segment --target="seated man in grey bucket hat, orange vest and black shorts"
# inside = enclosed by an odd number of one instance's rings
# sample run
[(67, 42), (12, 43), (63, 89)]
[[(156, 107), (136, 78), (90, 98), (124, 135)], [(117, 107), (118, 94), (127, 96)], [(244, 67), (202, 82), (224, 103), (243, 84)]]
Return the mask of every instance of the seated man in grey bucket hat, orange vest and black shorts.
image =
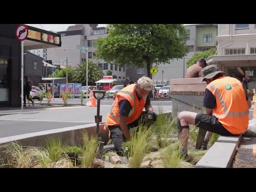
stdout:
[(238, 136), (247, 130), (249, 124), (251, 102), (241, 82), (224, 77), (224, 72), (215, 65), (206, 66), (202, 72), (202, 81), (208, 84), (203, 102), (206, 114), (183, 111), (176, 122), (181, 154), (185, 158), (189, 158), (189, 124), (224, 136)]

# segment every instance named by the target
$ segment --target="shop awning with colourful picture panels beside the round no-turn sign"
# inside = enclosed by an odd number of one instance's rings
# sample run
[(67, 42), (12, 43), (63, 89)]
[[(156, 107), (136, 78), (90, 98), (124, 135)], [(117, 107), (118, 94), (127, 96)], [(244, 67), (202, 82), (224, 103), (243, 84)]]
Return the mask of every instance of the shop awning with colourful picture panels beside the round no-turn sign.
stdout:
[(61, 35), (27, 25), (28, 37), (24, 40), (24, 50), (46, 49), (61, 46)]

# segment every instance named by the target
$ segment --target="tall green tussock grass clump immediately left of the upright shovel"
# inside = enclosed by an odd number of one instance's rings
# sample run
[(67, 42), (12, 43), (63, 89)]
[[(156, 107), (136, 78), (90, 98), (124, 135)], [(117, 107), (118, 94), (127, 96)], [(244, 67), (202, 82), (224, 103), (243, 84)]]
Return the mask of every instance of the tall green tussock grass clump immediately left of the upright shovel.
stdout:
[(92, 162), (98, 148), (98, 139), (95, 135), (92, 135), (89, 139), (86, 131), (82, 132), (82, 136), (84, 142), (82, 146), (82, 167), (92, 168)]

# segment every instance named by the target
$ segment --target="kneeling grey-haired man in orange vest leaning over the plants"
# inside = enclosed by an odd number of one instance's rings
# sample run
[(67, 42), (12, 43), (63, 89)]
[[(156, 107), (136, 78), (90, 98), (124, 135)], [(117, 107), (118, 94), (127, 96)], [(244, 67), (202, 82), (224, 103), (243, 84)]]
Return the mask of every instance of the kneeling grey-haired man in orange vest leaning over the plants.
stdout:
[(138, 79), (137, 84), (130, 84), (116, 94), (105, 128), (110, 130), (116, 151), (122, 151), (122, 143), (130, 141), (130, 128), (138, 126), (143, 109), (153, 112), (148, 93), (152, 91), (153, 81), (148, 77)]

